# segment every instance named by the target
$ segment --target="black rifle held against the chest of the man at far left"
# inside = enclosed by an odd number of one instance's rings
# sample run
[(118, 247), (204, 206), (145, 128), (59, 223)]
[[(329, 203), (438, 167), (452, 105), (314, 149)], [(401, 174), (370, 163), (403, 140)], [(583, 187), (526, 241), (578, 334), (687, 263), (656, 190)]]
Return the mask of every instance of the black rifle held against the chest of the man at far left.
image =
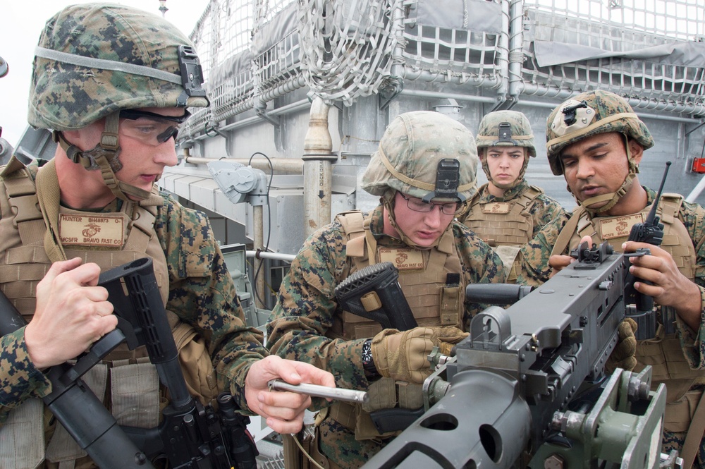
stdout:
[[(75, 365), (51, 367), (52, 393), (44, 403), (69, 434), (104, 469), (153, 468), (149, 461), (167, 459), (173, 469), (256, 468), (257, 449), (233, 396), (221, 393), (218, 410), (202, 406), (186, 387), (176, 343), (161, 302), (152, 260), (142, 258), (100, 275), (118, 317), (118, 327), (93, 344)], [(2, 295), (1, 334), (25, 324)], [(146, 346), (149, 360), (169, 391), (171, 403), (161, 424), (152, 429), (121, 427), (80, 377), (120, 343), (130, 350)]]

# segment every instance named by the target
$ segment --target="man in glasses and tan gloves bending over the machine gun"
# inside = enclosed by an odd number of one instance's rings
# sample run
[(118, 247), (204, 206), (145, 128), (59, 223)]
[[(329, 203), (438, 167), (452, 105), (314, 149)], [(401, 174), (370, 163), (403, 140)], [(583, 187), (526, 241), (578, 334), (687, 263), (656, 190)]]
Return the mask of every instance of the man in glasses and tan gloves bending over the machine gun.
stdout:
[[(304, 443), (326, 467), (359, 467), (411, 422), (388, 418), (381, 422), (386, 427), (377, 427), (374, 411), (399, 403), (415, 419), (423, 410), (421, 384), (431, 372), (426, 357), (432, 346), (466, 336), (458, 328), (479, 310), (464, 304), (465, 285), (504, 281), (489, 245), (453, 220), (474, 194), (476, 175), (467, 128), (431, 111), (397, 116), (362, 178), (362, 188), (379, 195), (380, 205), (369, 213), (339, 214), (319, 229), (283, 279), (267, 324), (271, 352), (328, 370), (338, 386), (370, 396), (364, 406), (334, 402), (317, 416), (316, 439)], [(419, 327), (383, 331), (338, 304), (336, 286), (383, 261), (398, 268)], [(386, 307), (393, 311), (395, 305)], [(298, 456), (287, 457), (288, 467), (297, 467)]]

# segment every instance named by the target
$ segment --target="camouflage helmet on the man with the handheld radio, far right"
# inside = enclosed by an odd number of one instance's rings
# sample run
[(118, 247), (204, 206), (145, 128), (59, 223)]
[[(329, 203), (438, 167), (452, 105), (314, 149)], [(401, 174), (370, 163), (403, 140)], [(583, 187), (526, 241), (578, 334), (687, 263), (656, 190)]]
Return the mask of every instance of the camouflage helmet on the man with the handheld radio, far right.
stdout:
[(560, 152), (565, 147), (583, 138), (609, 132), (633, 138), (644, 150), (654, 146), (654, 138), (632, 106), (613, 92), (584, 92), (553, 109), (546, 121), (546, 152), (553, 174), (563, 174)]

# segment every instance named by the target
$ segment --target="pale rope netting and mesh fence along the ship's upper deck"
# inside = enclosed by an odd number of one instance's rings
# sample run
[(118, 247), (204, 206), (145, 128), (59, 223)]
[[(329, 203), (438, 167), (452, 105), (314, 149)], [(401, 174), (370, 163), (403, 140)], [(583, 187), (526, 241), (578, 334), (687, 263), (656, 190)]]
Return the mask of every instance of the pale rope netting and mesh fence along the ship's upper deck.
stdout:
[(300, 87), (350, 105), (404, 80), (705, 112), (703, 0), (213, 0), (191, 39), (212, 106), (188, 133)]

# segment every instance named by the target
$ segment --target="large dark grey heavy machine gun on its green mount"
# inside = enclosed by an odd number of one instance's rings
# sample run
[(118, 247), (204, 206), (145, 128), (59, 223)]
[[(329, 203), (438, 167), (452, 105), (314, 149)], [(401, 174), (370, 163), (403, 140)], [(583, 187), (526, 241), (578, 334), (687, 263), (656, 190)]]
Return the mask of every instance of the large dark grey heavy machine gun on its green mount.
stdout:
[[(659, 467), (665, 387), (650, 391), (649, 367), (604, 377), (627, 257), (606, 243), (577, 255), (508, 309), (472, 319), (424, 382), (424, 415), (365, 469)], [(469, 286), (468, 298), (474, 288), (492, 286)]]

